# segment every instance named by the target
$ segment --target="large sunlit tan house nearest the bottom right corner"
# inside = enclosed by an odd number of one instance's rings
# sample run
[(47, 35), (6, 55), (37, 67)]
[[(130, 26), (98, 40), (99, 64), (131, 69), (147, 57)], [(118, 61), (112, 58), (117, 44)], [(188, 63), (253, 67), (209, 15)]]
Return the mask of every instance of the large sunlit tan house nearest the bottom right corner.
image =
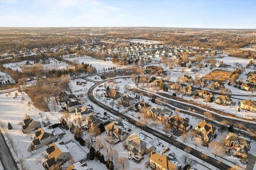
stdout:
[(225, 146), (236, 150), (236, 155), (247, 158), (250, 149), (250, 141), (229, 132), (225, 140)]

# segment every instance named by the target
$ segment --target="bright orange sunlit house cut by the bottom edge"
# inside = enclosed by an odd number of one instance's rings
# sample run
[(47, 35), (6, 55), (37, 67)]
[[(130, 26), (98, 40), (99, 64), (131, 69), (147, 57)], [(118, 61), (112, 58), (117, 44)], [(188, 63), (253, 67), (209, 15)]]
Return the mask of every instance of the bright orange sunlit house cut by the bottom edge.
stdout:
[(181, 164), (172, 156), (169, 148), (162, 152), (151, 152), (149, 166), (154, 170), (180, 170)]

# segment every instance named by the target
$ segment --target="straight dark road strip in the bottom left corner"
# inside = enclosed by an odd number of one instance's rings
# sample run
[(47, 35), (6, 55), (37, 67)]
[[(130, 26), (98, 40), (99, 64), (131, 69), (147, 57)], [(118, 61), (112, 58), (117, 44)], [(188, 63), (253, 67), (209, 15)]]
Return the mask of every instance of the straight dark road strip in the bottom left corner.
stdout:
[(7, 146), (4, 135), (0, 129), (0, 160), (4, 170), (18, 170), (18, 166), (12, 156), (10, 148)]

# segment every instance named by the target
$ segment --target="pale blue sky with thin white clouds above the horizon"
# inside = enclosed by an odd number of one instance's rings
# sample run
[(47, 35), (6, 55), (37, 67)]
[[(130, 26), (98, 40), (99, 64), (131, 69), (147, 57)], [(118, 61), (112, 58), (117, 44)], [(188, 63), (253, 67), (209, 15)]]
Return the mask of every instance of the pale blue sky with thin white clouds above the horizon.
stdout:
[(256, 29), (256, 1), (0, 0), (0, 26)]

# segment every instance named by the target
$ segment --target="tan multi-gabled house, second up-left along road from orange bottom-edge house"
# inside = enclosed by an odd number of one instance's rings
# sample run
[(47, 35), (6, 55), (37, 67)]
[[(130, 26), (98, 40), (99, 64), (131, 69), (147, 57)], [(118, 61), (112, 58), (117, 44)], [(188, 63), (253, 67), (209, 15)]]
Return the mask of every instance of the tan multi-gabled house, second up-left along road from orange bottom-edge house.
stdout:
[(120, 123), (109, 123), (105, 126), (106, 133), (112, 139), (118, 139), (120, 141), (124, 141), (130, 133), (124, 129), (124, 125)]

